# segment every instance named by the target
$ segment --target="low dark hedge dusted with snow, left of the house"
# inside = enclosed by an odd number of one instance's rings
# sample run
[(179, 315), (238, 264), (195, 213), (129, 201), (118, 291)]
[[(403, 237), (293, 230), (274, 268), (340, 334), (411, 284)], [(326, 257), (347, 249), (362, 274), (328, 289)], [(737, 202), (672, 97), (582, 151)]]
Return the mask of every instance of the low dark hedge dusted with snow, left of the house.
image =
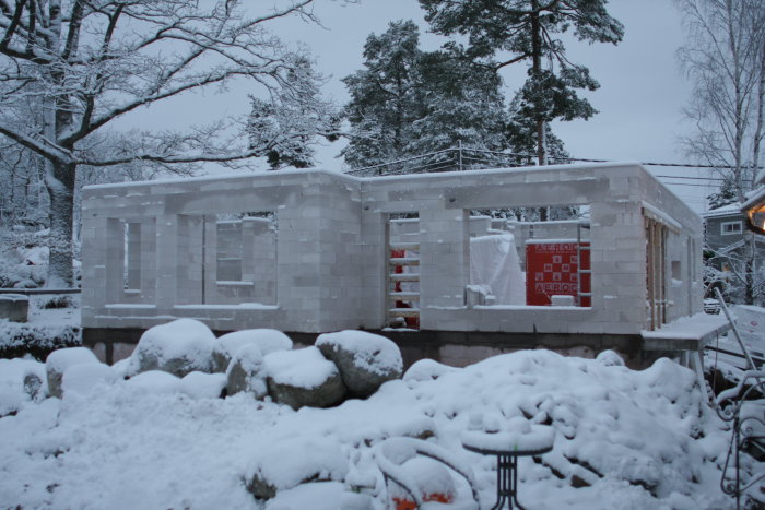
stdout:
[(33, 325), (0, 321), (0, 358), (26, 355), (43, 360), (58, 348), (82, 345), (80, 328), (73, 325)]

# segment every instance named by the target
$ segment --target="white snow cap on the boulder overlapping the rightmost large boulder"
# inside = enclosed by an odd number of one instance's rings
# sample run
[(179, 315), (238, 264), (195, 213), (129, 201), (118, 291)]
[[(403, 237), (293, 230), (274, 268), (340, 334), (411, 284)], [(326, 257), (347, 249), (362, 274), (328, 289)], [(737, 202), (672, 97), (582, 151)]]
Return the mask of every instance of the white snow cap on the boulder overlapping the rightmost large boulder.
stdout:
[(274, 382), (295, 388), (318, 388), (338, 373), (338, 367), (315, 346), (271, 353), (263, 356), (263, 368)]

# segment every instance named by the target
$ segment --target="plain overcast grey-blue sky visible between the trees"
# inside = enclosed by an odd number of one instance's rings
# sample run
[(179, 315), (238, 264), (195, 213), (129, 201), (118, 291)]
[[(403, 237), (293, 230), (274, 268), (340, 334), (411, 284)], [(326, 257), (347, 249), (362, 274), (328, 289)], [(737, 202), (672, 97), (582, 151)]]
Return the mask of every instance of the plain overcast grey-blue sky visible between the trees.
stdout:
[[(325, 93), (339, 105), (349, 99), (340, 80), (362, 68), (362, 51), (370, 33), (386, 31), (390, 21), (412, 19), (423, 31), (422, 46), (435, 49), (443, 40), (425, 34), (427, 24), (416, 0), (316, 0), (315, 13), (323, 27), (292, 19), (271, 25), (284, 41), (305, 43), (313, 51), (317, 69), (329, 78)], [(610, 13), (625, 26), (624, 40), (617, 45), (567, 45), (572, 61), (589, 67), (601, 87), (586, 96), (600, 112), (588, 121), (557, 122), (553, 129), (573, 157), (639, 161), (684, 162), (679, 137), (690, 129), (683, 122), (682, 108), (690, 95), (690, 84), (680, 72), (675, 57), (683, 44), (683, 31), (678, 10), (671, 0), (611, 0)], [(507, 97), (526, 79), (523, 64), (510, 67), (503, 73)], [(221, 98), (197, 102), (197, 109), (210, 109), (211, 115), (238, 115), (246, 111), (248, 91), (235, 87)], [(172, 107), (168, 107), (172, 108)], [(157, 112), (156, 108), (153, 110)], [(178, 110), (166, 110), (177, 123), (189, 123)], [(175, 122), (174, 122), (175, 123)], [(340, 169), (334, 156), (342, 142), (318, 151), (319, 166)], [(706, 171), (684, 168), (650, 167), (657, 175), (707, 177)], [(662, 178), (666, 182), (671, 179)], [(674, 180), (676, 182), (676, 179)], [(704, 197), (710, 188), (706, 181), (683, 181), (686, 186), (670, 189), (703, 212)], [(687, 186), (696, 185), (696, 186)]]

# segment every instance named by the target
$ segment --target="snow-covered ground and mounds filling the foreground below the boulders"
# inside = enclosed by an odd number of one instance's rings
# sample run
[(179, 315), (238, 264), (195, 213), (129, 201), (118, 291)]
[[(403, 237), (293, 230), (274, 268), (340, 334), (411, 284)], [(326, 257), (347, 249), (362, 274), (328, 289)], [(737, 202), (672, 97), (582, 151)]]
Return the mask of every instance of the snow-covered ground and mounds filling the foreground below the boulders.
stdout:
[[(201, 375), (184, 383), (99, 377), (90, 391), (67, 391), (64, 378), (62, 400), (33, 401), (23, 378), (44, 368), (0, 360), (0, 398), (17, 408), (0, 418), (2, 508), (381, 509), (374, 453), (399, 436), (431, 436), (457, 455), (489, 508), (495, 461), (464, 450), (461, 437), (526, 423), (555, 428), (552, 452), (520, 460), (529, 508), (732, 506), (719, 489), (729, 432), (693, 372), (666, 359), (643, 371), (612, 353), (593, 360), (520, 352), (463, 369), (426, 360), (367, 400), (297, 412), (244, 393), (214, 398)], [(334, 482), (295, 487), (314, 469)], [(254, 473), (282, 490), (256, 501), (247, 491)], [(370, 499), (351, 493), (354, 484), (368, 486)], [(469, 500), (464, 484), (457, 487)]]

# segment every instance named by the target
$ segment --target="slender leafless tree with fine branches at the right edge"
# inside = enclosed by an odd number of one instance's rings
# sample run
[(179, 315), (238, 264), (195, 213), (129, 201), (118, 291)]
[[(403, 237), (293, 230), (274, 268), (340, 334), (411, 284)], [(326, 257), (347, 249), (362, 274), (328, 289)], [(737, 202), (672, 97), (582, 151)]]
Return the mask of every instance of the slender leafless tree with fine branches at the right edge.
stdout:
[[(679, 55), (693, 81), (686, 116), (695, 124), (682, 143), (686, 153), (716, 167), (726, 189), (720, 195), (743, 202), (763, 166), (765, 137), (765, 2), (762, 0), (678, 0), (688, 44)], [(717, 195), (717, 204), (720, 202)], [(735, 278), (752, 304), (757, 288), (754, 234), (744, 234), (730, 258)]]

